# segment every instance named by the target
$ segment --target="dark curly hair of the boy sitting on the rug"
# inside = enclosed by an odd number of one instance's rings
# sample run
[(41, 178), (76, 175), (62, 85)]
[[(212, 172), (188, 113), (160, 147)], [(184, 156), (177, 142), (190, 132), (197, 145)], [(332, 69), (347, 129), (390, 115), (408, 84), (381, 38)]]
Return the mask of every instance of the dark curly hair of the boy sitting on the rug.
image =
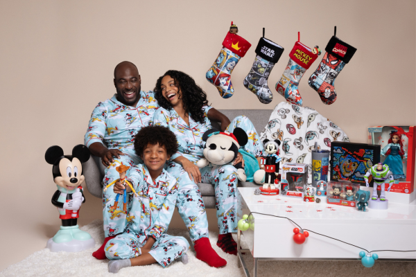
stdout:
[(172, 157), (177, 152), (177, 140), (175, 134), (163, 126), (143, 127), (135, 136), (135, 152), (139, 157), (143, 156), (144, 148), (150, 143), (166, 148), (166, 154)]

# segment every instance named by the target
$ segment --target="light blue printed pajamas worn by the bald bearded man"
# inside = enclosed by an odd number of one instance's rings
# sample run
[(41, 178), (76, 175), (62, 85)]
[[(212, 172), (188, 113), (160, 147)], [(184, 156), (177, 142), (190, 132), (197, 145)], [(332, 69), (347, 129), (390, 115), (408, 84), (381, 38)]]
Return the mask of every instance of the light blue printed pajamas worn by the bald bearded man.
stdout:
[[(140, 100), (136, 108), (123, 105), (116, 98), (116, 94), (111, 99), (99, 102), (92, 111), (89, 120), (87, 133), (84, 143), (89, 148), (92, 143), (103, 143), (108, 149), (118, 149), (125, 155), (120, 159), (114, 159), (114, 163), (105, 169), (103, 179), (104, 188), (107, 184), (120, 178), (116, 167), (124, 164), (135, 166), (141, 163), (141, 159), (136, 155), (133, 142), (135, 135), (142, 127), (153, 125), (153, 116), (159, 105), (154, 98), (153, 91), (140, 91)], [(125, 213), (123, 210), (123, 198), (119, 199), (119, 208), (115, 211), (114, 206), (116, 194), (112, 186), (103, 192), (103, 221), (105, 237), (122, 233), (126, 226)], [(128, 206), (129, 210), (129, 206)]]

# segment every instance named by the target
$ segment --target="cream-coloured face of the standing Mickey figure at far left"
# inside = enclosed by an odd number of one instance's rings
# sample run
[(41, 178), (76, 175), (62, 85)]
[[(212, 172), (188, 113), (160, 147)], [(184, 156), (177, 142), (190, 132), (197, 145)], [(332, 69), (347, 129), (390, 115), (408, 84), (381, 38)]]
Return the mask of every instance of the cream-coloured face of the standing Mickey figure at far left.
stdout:
[(69, 161), (67, 158), (61, 159), (59, 162), (59, 171), (62, 176), (55, 177), (53, 181), (55, 181), (55, 184), (58, 186), (67, 188), (67, 190), (73, 190), (80, 186), (85, 179), (85, 177), (81, 175), (83, 165), (77, 158), (73, 158), (72, 161)]

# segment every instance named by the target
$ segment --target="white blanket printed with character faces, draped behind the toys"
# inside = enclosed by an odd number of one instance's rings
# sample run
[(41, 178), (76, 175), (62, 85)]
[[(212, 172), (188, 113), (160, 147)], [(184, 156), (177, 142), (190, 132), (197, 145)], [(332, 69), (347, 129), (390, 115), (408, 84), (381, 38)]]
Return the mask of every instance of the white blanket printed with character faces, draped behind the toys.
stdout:
[(320, 150), (331, 150), (331, 141), (349, 141), (340, 127), (315, 109), (288, 102), (280, 102), (275, 107), (260, 139), (281, 141), (280, 169), (287, 162), (308, 164), (308, 184), (312, 183), (311, 151), (315, 149), (315, 142)]

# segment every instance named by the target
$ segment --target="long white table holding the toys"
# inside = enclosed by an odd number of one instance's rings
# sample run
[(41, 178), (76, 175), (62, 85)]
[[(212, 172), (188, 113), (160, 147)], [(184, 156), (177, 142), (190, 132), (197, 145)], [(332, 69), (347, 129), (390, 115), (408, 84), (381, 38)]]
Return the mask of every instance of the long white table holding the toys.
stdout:
[[(255, 188), (239, 188), (239, 204), (243, 213), (250, 212), (289, 217), (302, 229), (329, 235), (355, 244), (368, 251), (416, 250), (416, 206), (389, 203), (388, 210), (358, 211), (357, 208), (304, 202), (282, 195), (254, 195)], [(370, 200), (371, 201), (371, 200)], [(295, 244), (293, 229), (297, 226), (284, 218), (252, 214), (254, 231), (238, 231), (238, 263), (250, 276), (241, 253), (254, 257), (254, 277), (259, 260), (361, 260), (361, 249), (309, 233), (304, 244)], [(240, 249), (241, 234), (249, 249)], [(416, 252), (374, 252), (379, 260), (416, 261)], [(376, 262), (379, 262), (376, 260)]]

